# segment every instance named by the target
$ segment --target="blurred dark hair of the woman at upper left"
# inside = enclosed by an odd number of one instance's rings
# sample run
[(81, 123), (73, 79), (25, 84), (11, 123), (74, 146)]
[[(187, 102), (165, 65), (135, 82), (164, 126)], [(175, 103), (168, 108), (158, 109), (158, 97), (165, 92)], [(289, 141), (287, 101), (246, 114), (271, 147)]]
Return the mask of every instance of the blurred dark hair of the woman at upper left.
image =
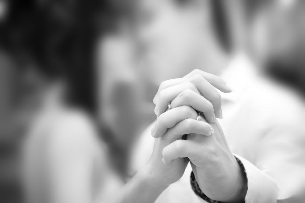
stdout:
[(11, 0), (1, 49), (49, 79), (64, 78), (71, 101), (93, 111), (94, 45), (103, 11), (106, 2), (100, 0)]

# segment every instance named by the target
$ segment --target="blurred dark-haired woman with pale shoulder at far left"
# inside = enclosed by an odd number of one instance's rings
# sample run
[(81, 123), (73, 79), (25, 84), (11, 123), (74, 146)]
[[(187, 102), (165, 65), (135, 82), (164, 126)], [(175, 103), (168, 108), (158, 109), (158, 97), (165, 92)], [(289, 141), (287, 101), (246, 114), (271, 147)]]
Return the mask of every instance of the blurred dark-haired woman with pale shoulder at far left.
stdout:
[(10, 1), (1, 24), (1, 49), (16, 67), (12, 114), (26, 134), (26, 202), (93, 202), (107, 177), (94, 122), (95, 11), (95, 1)]

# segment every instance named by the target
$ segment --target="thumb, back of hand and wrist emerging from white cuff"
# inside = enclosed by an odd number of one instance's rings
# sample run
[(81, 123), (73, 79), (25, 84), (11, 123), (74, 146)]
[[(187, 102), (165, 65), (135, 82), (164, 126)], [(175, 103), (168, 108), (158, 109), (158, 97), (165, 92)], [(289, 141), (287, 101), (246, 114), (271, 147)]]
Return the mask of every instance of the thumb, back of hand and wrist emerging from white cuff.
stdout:
[[(163, 161), (169, 164), (178, 157), (188, 157), (197, 183), (207, 197), (222, 202), (242, 202), (247, 190), (244, 172), (231, 153), (219, 123), (211, 126), (214, 130), (211, 136), (191, 133), (187, 140), (166, 146)], [(168, 136), (167, 133), (164, 136)]]

